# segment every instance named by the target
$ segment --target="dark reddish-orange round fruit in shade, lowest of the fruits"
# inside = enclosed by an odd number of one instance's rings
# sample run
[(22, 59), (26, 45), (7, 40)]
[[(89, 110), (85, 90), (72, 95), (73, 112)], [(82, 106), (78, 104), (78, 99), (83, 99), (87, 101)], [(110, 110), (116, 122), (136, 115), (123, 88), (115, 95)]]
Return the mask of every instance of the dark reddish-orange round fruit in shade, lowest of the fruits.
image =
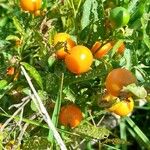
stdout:
[(61, 108), (59, 122), (72, 128), (78, 126), (83, 119), (82, 112), (75, 104), (65, 105)]

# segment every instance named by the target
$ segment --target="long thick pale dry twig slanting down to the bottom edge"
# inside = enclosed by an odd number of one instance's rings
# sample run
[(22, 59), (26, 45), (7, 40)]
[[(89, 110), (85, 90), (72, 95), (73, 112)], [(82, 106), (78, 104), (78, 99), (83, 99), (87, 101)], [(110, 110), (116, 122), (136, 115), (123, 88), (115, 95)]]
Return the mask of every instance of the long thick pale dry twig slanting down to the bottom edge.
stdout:
[(27, 74), (27, 72), (26, 72), (26, 70), (24, 69), (23, 66), (21, 66), (21, 70), (22, 70), (22, 72), (23, 72), (23, 74), (24, 74), (24, 76), (25, 76), (25, 78), (26, 78), (26, 80), (27, 80), (27, 82), (28, 82), (28, 84), (29, 84), (29, 86), (30, 86), (30, 88), (31, 88), (31, 90), (32, 90), (32, 92), (33, 92), (37, 102), (38, 102), (38, 104), (39, 104), (39, 108), (40, 108), (40, 110), (42, 112), (43, 119), (48, 124), (49, 129), (52, 130), (52, 133), (53, 133), (56, 141), (58, 142), (61, 150), (67, 150), (63, 140), (61, 139), (59, 133), (57, 132), (55, 126), (53, 125), (53, 122), (52, 122), (52, 120), (51, 120), (47, 110), (45, 109), (45, 107), (44, 107), (44, 105), (43, 105), (43, 103), (41, 101), (41, 98), (39, 97), (38, 93), (36, 92), (32, 82), (31, 82), (31, 79), (30, 79), (29, 75)]

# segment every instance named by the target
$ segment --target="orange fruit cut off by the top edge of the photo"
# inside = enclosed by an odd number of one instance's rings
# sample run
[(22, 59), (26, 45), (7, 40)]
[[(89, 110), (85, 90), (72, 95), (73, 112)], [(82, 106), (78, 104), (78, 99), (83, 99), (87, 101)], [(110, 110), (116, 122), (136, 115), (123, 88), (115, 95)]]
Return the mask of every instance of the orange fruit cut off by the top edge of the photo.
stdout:
[(25, 11), (34, 12), (41, 8), (42, 0), (20, 0), (20, 6)]

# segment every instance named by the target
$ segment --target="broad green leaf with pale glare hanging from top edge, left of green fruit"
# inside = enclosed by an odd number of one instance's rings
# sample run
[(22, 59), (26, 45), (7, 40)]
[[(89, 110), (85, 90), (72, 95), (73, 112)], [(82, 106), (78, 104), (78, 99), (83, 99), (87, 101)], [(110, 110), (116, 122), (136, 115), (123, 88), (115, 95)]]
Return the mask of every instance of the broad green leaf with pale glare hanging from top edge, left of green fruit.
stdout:
[(89, 45), (105, 37), (104, 9), (101, 0), (86, 0), (81, 16), (79, 38)]

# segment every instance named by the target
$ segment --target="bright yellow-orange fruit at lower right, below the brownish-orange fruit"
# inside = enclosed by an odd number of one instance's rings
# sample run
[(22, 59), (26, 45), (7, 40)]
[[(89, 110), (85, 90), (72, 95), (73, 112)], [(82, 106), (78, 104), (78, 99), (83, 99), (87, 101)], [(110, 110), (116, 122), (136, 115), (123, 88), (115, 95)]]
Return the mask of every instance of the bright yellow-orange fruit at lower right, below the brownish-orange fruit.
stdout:
[(129, 97), (128, 99), (115, 103), (108, 110), (119, 116), (127, 116), (133, 111), (133, 108), (134, 108), (134, 101), (132, 97)]

